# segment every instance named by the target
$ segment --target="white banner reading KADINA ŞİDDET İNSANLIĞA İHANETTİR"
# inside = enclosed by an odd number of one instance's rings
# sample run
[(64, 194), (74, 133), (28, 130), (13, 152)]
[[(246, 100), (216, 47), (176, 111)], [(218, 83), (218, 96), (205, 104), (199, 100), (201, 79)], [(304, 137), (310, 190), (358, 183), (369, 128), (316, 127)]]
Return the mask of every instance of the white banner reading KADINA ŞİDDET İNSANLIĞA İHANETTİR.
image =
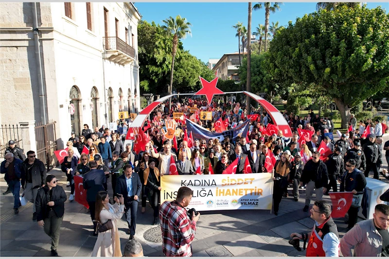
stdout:
[(272, 207), (272, 173), (164, 175), (161, 203), (173, 201), (181, 186), (193, 190), (188, 207), (198, 211)]

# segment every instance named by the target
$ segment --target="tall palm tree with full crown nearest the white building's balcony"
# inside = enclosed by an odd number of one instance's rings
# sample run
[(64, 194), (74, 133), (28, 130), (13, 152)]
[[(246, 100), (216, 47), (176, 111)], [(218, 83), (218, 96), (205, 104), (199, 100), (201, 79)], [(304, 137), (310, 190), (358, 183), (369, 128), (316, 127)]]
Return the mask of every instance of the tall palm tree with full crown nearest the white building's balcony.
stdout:
[[(186, 20), (186, 18), (182, 18), (180, 15), (177, 15), (176, 19), (173, 17), (169, 17), (163, 20), (165, 25), (161, 26), (168, 35), (173, 36), (173, 47), (172, 47), (172, 70), (170, 72), (170, 86), (169, 86), (169, 94), (172, 94), (173, 91), (173, 72), (174, 72), (174, 59), (176, 58), (177, 53), (177, 45), (179, 39), (184, 39), (187, 34), (192, 36), (191, 29), (189, 26), (192, 24)], [(171, 108), (171, 102), (169, 102), (169, 107)]]

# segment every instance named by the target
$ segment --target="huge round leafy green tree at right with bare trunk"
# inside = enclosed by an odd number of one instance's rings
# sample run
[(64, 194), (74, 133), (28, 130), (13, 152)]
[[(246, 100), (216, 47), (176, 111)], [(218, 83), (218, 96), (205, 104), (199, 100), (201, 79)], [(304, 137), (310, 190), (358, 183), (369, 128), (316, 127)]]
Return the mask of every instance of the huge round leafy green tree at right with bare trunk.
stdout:
[(275, 35), (268, 68), (280, 84), (315, 84), (333, 98), (346, 128), (352, 107), (388, 87), (388, 28), (381, 7), (323, 9)]

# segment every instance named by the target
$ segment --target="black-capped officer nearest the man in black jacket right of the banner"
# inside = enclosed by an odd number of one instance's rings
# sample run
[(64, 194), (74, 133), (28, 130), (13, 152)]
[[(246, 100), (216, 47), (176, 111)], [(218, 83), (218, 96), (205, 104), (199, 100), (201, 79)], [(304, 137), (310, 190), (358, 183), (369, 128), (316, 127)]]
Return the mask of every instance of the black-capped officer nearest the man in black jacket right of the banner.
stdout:
[(336, 180), (343, 176), (344, 172), (344, 163), (342, 156), (342, 148), (336, 147), (333, 154), (327, 157), (325, 161), (328, 170), (328, 178), (330, 178), (330, 183), (327, 185), (327, 191), (324, 195), (328, 195), (328, 191), (332, 188), (334, 192), (337, 191)]

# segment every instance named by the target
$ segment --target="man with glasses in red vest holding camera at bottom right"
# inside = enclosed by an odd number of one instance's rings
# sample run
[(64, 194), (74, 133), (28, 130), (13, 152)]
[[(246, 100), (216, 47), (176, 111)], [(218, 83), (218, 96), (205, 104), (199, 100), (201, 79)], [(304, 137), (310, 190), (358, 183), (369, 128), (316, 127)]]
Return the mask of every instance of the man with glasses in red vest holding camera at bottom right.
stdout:
[(331, 212), (329, 203), (323, 200), (316, 201), (311, 208), (311, 219), (315, 221), (312, 232), (290, 235), (293, 240), (303, 240), (304, 249), (308, 240), (306, 257), (339, 257), (339, 235)]

